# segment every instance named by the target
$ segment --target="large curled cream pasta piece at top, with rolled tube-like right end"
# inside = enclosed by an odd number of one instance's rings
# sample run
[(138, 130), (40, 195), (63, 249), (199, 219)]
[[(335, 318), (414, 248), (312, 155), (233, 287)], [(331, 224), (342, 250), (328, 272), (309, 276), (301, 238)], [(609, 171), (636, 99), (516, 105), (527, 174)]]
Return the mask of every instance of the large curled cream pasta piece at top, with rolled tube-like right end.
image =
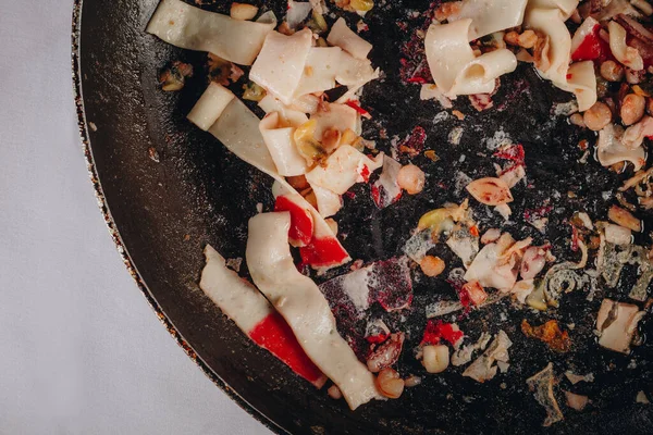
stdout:
[(502, 74), (515, 71), (517, 59), (500, 49), (476, 58), (467, 38), (471, 20), (432, 24), (427, 32), (427, 61), (435, 85), (448, 98), (488, 94)]

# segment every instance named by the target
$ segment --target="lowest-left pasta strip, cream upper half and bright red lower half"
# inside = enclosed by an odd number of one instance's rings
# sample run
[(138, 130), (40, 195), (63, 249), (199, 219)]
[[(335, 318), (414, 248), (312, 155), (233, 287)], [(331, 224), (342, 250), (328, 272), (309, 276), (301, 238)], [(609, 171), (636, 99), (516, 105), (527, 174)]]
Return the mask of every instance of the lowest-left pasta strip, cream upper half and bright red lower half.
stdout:
[(205, 248), (206, 265), (199, 288), (254, 343), (267, 349), (295, 373), (321, 388), (326, 382), (306, 356), (287, 323), (268, 299), (237, 273), (226, 268), (224, 258), (210, 245)]

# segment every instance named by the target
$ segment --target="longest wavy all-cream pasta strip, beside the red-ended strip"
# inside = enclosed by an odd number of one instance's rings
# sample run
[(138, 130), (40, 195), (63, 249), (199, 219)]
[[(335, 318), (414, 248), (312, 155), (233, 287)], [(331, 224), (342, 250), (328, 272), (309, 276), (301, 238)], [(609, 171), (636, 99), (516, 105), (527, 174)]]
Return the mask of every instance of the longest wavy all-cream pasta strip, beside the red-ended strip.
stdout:
[(338, 335), (318, 286), (297, 271), (287, 243), (289, 225), (288, 213), (262, 213), (249, 220), (249, 273), (286, 320), (308, 357), (337, 385), (354, 410), (381, 395), (373, 374)]

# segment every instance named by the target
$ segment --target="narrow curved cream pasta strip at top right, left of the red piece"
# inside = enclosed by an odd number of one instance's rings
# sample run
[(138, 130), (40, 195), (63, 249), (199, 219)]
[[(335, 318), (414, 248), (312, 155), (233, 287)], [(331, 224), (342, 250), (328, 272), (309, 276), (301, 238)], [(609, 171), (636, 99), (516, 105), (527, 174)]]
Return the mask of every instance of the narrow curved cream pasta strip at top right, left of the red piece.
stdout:
[(571, 61), (571, 35), (558, 9), (530, 9), (526, 13), (528, 28), (549, 37), (549, 47), (542, 51), (541, 62), (535, 64), (542, 77), (566, 88), (567, 70)]

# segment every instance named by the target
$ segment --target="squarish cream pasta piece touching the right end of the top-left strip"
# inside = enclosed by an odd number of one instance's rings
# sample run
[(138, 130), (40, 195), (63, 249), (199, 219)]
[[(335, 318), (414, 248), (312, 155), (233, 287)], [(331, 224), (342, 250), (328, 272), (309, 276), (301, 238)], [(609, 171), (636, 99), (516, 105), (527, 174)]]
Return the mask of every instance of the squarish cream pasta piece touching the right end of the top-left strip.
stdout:
[(312, 32), (308, 28), (291, 36), (271, 32), (251, 66), (249, 79), (289, 105), (304, 74), (311, 44)]

